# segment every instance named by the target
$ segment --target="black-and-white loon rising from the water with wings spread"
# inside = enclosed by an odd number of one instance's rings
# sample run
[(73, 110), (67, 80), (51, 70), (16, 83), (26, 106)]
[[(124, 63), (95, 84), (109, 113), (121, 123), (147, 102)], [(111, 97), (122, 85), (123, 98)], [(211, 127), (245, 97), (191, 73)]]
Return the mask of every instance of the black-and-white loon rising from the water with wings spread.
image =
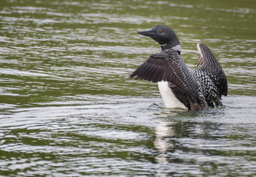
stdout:
[(200, 54), (196, 65), (189, 68), (181, 58), (181, 45), (176, 33), (165, 25), (137, 32), (153, 38), (162, 51), (150, 55), (131, 75), (131, 78), (158, 83), (159, 92), (167, 108), (202, 110), (222, 105), (221, 96), (227, 95), (227, 80), (223, 69), (211, 50), (198, 43)]

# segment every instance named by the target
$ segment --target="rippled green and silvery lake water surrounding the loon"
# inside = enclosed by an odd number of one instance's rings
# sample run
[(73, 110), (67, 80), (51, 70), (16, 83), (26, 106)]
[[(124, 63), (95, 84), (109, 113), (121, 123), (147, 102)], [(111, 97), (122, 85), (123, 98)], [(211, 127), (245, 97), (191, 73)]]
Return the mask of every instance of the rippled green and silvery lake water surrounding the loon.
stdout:
[[(254, 1), (1, 1), (0, 176), (256, 176)], [(212, 49), (224, 106), (164, 108), (129, 74), (166, 24), (193, 67)]]

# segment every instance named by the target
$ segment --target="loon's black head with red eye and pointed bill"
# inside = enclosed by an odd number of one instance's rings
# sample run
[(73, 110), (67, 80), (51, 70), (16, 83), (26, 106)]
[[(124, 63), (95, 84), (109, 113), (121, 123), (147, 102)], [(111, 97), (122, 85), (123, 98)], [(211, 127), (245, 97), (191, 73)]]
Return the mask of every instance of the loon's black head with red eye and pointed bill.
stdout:
[(174, 46), (180, 45), (179, 38), (175, 32), (165, 25), (153, 26), (151, 30), (138, 32), (139, 35), (145, 35), (153, 38), (160, 44), (162, 49), (173, 48)]

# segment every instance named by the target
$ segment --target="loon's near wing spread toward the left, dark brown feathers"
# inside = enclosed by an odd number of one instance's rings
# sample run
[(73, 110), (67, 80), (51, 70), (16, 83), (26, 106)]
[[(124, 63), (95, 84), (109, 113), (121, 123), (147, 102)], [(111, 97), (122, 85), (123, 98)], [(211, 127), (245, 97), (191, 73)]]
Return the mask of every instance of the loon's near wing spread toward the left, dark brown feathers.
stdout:
[(167, 54), (161, 52), (151, 55), (130, 77), (154, 83), (167, 81), (184, 92), (190, 103), (193, 103), (192, 108), (193, 106), (199, 107), (198, 109), (205, 107), (205, 100), (200, 94), (196, 79), (177, 52), (169, 51)]

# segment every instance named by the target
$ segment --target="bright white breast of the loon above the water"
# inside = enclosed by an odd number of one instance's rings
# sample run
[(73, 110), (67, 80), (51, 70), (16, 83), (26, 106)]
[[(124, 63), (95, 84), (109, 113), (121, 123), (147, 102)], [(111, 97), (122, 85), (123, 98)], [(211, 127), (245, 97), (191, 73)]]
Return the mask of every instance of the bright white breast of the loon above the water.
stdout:
[(173, 94), (173, 91), (168, 86), (167, 81), (158, 82), (158, 87), (162, 99), (164, 100), (166, 108), (184, 108), (186, 109), (185, 105), (181, 103)]

